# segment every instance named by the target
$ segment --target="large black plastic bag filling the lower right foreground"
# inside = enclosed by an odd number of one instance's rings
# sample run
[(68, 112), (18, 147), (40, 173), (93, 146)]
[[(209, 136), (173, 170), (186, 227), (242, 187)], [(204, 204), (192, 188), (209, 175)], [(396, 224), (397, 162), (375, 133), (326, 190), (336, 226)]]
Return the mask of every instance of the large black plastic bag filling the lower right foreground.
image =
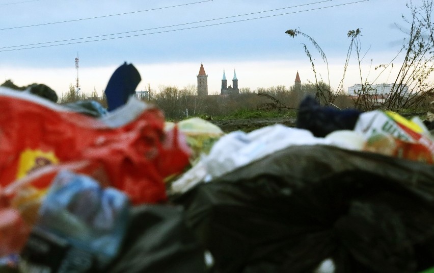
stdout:
[(417, 272), (434, 264), (434, 168), (291, 146), (174, 200), (216, 272)]

